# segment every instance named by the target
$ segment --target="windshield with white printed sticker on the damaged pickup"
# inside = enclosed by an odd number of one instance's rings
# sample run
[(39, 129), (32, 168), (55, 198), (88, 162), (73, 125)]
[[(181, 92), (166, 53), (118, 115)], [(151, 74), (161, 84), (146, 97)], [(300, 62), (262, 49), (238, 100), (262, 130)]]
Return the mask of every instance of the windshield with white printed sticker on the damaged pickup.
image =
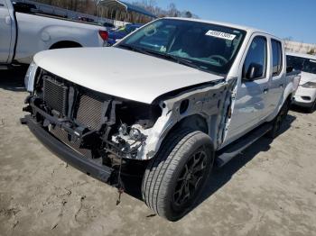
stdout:
[(135, 32), (117, 47), (226, 75), (246, 32), (210, 23), (162, 19)]

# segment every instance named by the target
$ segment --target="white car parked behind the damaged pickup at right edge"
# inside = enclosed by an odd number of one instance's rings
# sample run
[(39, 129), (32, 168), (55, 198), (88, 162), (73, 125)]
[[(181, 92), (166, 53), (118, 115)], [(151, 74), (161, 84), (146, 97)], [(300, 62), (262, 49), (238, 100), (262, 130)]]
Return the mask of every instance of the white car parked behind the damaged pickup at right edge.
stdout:
[(293, 103), (308, 108), (312, 113), (316, 108), (316, 56), (288, 52), (286, 59), (289, 67), (302, 71)]

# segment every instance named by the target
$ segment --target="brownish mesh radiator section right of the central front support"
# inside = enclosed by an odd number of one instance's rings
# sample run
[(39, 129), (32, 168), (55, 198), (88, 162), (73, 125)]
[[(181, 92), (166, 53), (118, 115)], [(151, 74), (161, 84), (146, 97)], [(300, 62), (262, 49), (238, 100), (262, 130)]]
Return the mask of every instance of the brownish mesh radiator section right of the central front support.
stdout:
[(102, 100), (96, 95), (81, 95), (76, 121), (88, 126), (93, 130), (98, 130), (102, 122)]

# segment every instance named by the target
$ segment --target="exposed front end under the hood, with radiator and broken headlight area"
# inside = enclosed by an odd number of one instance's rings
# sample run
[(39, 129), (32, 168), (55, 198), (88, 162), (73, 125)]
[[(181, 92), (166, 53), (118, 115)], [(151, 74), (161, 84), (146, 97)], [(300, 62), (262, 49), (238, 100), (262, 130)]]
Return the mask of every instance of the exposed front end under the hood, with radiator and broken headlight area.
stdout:
[(60, 141), (89, 159), (116, 165), (117, 159), (136, 159), (147, 136), (162, 115), (159, 104), (100, 94), (41, 69), (24, 111)]

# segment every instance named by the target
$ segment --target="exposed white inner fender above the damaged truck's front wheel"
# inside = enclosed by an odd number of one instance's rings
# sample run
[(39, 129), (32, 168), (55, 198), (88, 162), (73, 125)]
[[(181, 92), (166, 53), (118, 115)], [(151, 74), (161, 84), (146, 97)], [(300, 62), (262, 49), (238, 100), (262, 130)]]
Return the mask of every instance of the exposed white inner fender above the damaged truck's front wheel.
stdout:
[[(217, 149), (224, 141), (233, 108), (237, 79), (220, 80), (216, 85), (201, 86), (160, 103), (163, 113), (153, 128), (144, 130), (146, 141), (138, 152), (137, 159), (152, 159), (161, 147), (164, 138), (177, 124), (191, 115), (199, 114), (208, 124), (208, 134)], [(186, 103), (183, 110), (181, 104)]]

